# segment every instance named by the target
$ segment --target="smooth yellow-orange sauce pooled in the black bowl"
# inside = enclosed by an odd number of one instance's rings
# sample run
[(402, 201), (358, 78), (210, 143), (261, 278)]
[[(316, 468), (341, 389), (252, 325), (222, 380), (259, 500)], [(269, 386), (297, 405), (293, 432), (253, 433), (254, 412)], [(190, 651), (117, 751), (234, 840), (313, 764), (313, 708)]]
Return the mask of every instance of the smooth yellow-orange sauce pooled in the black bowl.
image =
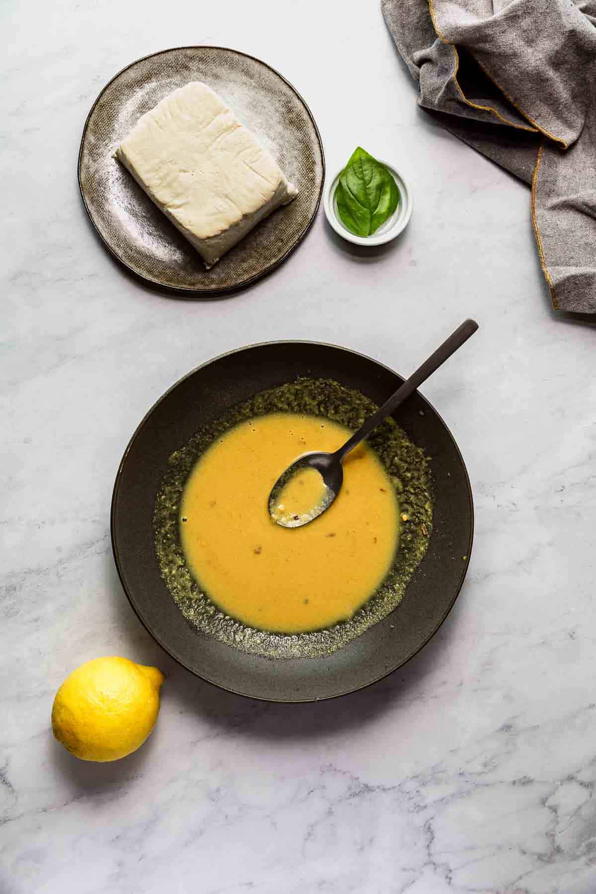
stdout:
[[(191, 470), (180, 502), (180, 543), (199, 586), (252, 628), (301, 633), (351, 618), (381, 586), (399, 542), (399, 503), (366, 444), (344, 462), (332, 506), (304, 527), (269, 516), (273, 484), (307, 451), (335, 451), (350, 430), (298, 413), (270, 413), (219, 436)], [(317, 480), (318, 479), (318, 480)], [(306, 505), (320, 476), (299, 479)], [(312, 493), (311, 493), (312, 490)]]

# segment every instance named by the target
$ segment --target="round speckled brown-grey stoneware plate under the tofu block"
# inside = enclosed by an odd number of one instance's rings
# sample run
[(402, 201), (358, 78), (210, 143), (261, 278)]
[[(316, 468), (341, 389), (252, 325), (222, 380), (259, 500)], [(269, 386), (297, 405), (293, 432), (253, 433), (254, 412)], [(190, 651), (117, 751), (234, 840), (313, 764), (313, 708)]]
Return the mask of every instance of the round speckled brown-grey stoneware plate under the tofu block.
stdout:
[[(299, 190), (210, 270), (113, 157), (142, 114), (191, 80), (223, 97)], [(106, 248), (132, 273), (189, 298), (236, 291), (280, 265), (313, 223), (323, 180), (323, 145), (302, 97), (265, 63), (219, 46), (182, 46), (131, 63), (97, 97), (80, 143), (80, 191)]]

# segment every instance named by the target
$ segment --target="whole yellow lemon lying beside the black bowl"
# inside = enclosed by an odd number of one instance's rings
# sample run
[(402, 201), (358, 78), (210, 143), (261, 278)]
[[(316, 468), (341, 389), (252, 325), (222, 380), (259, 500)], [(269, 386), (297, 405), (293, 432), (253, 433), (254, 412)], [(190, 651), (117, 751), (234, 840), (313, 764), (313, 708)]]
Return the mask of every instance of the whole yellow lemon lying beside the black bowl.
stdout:
[(58, 689), (52, 731), (82, 761), (117, 761), (139, 748), (155, 726), (164, 674), (128, 658), (94, 658)]

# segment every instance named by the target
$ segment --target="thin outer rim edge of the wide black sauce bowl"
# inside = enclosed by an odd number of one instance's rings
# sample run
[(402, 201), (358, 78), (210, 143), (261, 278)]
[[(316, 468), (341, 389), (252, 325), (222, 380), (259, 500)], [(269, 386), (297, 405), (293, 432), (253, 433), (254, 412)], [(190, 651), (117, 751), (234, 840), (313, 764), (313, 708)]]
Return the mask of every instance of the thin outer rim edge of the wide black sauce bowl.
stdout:
[(365, 358), (366, 360), (371, 361), (372, 363), (376, 364), (377, 366), (386, 369), (392, 375), (397, 375), (400, 379), (402, 379), (402, 381), (404, 381), (403, 376), (399, 375), (399, 373), (396, 373), (395, 370), (391, 369), (391, 367), (388, 367), (386, 364), (382, 363), (381, 360), (376, 360), (372, 357), (369, 357), (367, 354), (363, 354), (361, 351), (353, 350), (351, 348), (346, 348), (343, 345), (333, 344), (332, 342), (315, 342), (315, 341), (308, 340), (308, 339), (274, 339), (274, 340), (271, 340), (268, 342), (254, 342), (252, 344), (243, 345), (239, 348), (234, 348), (232, 350), (223, 351), (222, 354), (218, 354), (217, 356), (215, 356), (213, 358), (209, 358), (208, 360), (205, 361), (205, 363), (201, 363), (197, 367), (194, 367), (193, 369), (189, 370), (189, 372), (186, 373), (186, 375), (180, 376), (180, 378), (177, 379), (147, 410), (147, 413), (140, 420), (139, 425), (134, 430), (132, 436), (130, 437), (130, 441), (127, 443), (126, 448), (122, 454), (122, 460), (120, 460), (120, 463), (118, 465), (118, 470), (116, 472), (116, 477), (115, 477), (114, 484), (113, 484), (112, 502), (110, 504), (110, 539), (111, 539), (111, 543), (112, 543), (113, 561), (116, 566), (116, 571), (118, 572), (118, 578), (120, 578), (120, 582), (122, 585), (122, 589), (124, 591), (124, 595), (126, 595), (126, 598), (128, 599), (128, 601), (130, 603), (130, 607), (132, 608), (134, 613), (139, 618), (139, 621), (141, 622), (143, 627), (147, 630), (147, 633), (150, 635), (150, 637), (152, 637), (152, 639), (155, 640), (155, 642), (158, 645), (161, 646), (161, 648), (164, 649), (165, 653), (169, 654), (170, 657), (175, 662), (180, 664), (180, 666), (183, 667), (186, 671), (189, 671), (189, 673), (191, 673), (194, 677), (197, 677), (198, 679), (201, 679), (204, 682), (209, 683), (211, 686), (221, 689), (223, 692), (231, 692), (233, 695), (242, 696), (243, 698), (250, 698), (257, 702), (268, 702), (271, 704), (309, 704), (309, 703), (315, 703), (315, 702), (326, 702), (332, 698), (342, 698), (343, 696), (348, 696), (348, 695), (351, 695), (352, 693), (360, 692), (362, 689), (366, 689), (369, 686), (374, 686), (375, 683), (378, 683), (380, 680), (385, 679), (386, 677), (389, 677), (390, 674), (395, 673), (395, 671), (399, 671), (399, 669), (404, 667), (404, 665), (407, 664), (407, 662), (410, 662), (415, 657), (415, 655), (417, 655), (424, 648), (425, 645), (428, 645), (430, 643), (432, 638), (436, 635), (437, 631), (443, 626), (445, 621), (448, 619), (449, 614), (451, 613), (453, 606), (455, 605), (455, 603), (457, 601), (457, 596), (460, 594), (462, 586), (464, 586), (464, 581), (466, 580), (467, 569), (470, 564), (470, 557), (471, 557), (471, 553), (472, 553), (472, 547), (474, 544), (474, 494), (472, 492), (472, 485), (470, 483), (470, 477), (469, 477), (469, 474), (468, 474), (468, 471), (466, 468), (466, 462), (464, 461), (462, 452), (459, 450), (457, 441), (455, 440), (453, 434), (451, 433), (449, 426), (446, 425), (445, 420), (443, 419), (443, 417), (441, 417), (441, 414), (438, 413), (436, 409), (434, 409), (434, 407), (432, 406), (432, 403), (424, 397), (424, 394), (421, 394), (416, 389), (415, 393), (418, 395), (418, 397), (421, 398), (422, 401), (424, 401), (424, 403), (430, 409), (432, 409), (432, 412), (439, 418), (441, 425), (444, 426), (445, 431), (449, 435), (449, 438), (450, 438), (451, 442), (453, 443), (453, 446), (455, 447), (455, 450), (457, 452), (457, 457), (459, 458), (459, 460), (461, 462), (462, 469), (464, 471), (464, 476), (466, 479), (467, 497), (468, 497), (468, 502), (469, 502), (469, 507), (470, 507), (470, 536), (469, 536), (469, 543), (467, 545), (466, 560), (463, 564), (462, 571), (461, 571), (461, 574), (459, 577), (459, 581), (457, 583), (457, 587), (455, 589), (455, 592), (454, 592), (451, 600), (449, 601), (449, 605), (447, 606), (446, 611), (444, 611), (444, 613), (441, 617), (441, 620), (436, 625), (436, 627), (432, 630), (432, 632), (429, 634), (429, 636), (426, 637), (426, 639), (424, 639), (424, 642), (421, 643), (420, 645), (418, 645), (418, 647), (413, 652), (408, 654), (407, 657), (404, 658), (403, 661), (396, 664), (395, 667), (391, 668), (389, 671), (383, 671), (381, 674), (379, 674), (374, 679), (368, 680), (367, 682), (363, 683), (360, 686), (346, 689), (343, 692), (337, 692), (331, 696), (319, 696), (319, 697), (315, 697), (315, 698), (300, 698), (300, 699), (269, 698), (267, 696), (255, 696), (255, 695), (251, 695), (246, 692), (241, 692), (239, 689), (223, 686), (221, 683), (217, 683), (215, 680), (209, 679), (208, 677), (203, 676), (202, 674), (198, 673), (198, 671), (196, 671), (194, 668), (189, 667), (189, 665), (186, 662), (182, 661), (181, 658), (178, 657), (178, 655), (174, 654), (171, 651), (171, 649), (167, 645), (164, 644), (161, 637), (159, 637), (157, 634), (155, 634), (155, 632), (147, 626), (147, 623), (141, 616), (136, 604), (134, 603), (134, 601), (128, 591), (128, 587), (126, 586), (126, 584), (124, 582), (124, 578), (122, 575), (122, 569), (121, 569), (121, 565), (120, 565), (118, 547), (116, 545), (114, 515), (115, 515), (116, 500), (118, 497), (118, 492), (119, 492), (121, 479), (122, 479), (122, 470), (124, 468), (124, 464), (127, 460), (128, 454), (130, 452), (130, 448), (132, 447), (133, 443), (137, 440), (137, 438), (138, 438), (139, 434), (141, 433), (142, 429), (144, 428), (144, 426), (146, 426), (147, 421), (148, 421), (149, 417), (151, 417), (151, 415), (153, 414), (154, 410), (162, 403), (162, 401), (164, 401), (167, 398), (167, 396), (170, 394), (170, 392), (172, 392), (175, 388), (178, 387), (178, 385), (180, 385), (182, 382), (184, 382), (186, 379), (188, 379), (189, 376), (195, 375), (201, 369), (210, 366), (210, 364), (215, 363), (218, 360), (222, 360), (223, 358), (230, 357), (233, 354), (239, 354), (245, 350), (251, 350), (254, 348), (262, 348), (262, 347), (265, 347), (267, 345), (272, 345), (272, 344), (277, 344), (277, 345), (284, 345), (284, 344), (317, 345), (317, 346), (323, 347), (323, 348), (333, 348), (336, 350), (342, 350), (342, 351), (347, 352), (348, 354), (355, 354), (358, 357)]

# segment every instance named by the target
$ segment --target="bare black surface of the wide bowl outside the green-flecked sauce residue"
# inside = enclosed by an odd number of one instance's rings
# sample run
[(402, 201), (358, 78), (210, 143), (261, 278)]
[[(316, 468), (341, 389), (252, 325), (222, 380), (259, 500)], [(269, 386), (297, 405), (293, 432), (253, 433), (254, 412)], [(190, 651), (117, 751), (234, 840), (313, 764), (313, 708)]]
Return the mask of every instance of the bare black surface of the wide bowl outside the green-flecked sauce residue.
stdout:
[(395, 414), (431, 458), (433, 523), (424, 559), (399, 606), (332, 654), (272, 660), (199, 633), (164, 584), (155, 556), (155, 495), (168, 458), (202, 426), (257, 392), (298, 376), (335, 379), (376, 403), (402, 379), (354, 351), (316, 342), (269, 342), (232, 351), (186, 375), (133, 434), (113, 490), (112, 545), (122, 586), (149, 633), (199, 677), (243, 696), (306, 702), (368, 686), (407, 662), (441, 627), (466, 577), (474, 510), (464, 460), (418, 392)]

